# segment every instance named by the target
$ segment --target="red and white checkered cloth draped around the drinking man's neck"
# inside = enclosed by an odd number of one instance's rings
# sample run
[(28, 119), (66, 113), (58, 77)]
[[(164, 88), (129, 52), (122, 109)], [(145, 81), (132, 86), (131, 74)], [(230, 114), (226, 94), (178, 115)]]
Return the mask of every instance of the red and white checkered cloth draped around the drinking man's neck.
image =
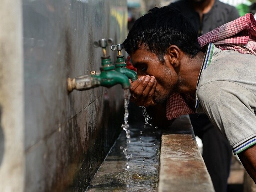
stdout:
[[(237, 50), (239, 53), (256, 55), (256, 21), (254, 16), (245, 14), (234, 21), (226, 23), (198, 37), (201, 47), (212, 42), (222, 50)], [(177, 118), (183, 114), (194, 113), (186, 103), (195, 100), (192, 94), (173, 93), (166, 105), (167, 119)], [(186, 101), (185, 101), (186, 100)]]

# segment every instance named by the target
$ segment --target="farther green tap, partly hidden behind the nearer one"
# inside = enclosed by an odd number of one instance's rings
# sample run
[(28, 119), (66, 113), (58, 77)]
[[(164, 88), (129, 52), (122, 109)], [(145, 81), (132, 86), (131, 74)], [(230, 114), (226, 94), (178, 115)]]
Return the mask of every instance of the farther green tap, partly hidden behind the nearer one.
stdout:
[(121, 53), (121, 50), (123, 50), (124, 47), (122, 44), (112, 45), (111, 50), (117, 50), (118, 56), (116, 60), (116, 71), (119, 73), (122, 73), (126, 75), (130, 80), (135, 81), (137, 79), (137, 74), (135, 71), (128, 69), (126, 66), (126, 62), (124, 61), (124, 56)]

